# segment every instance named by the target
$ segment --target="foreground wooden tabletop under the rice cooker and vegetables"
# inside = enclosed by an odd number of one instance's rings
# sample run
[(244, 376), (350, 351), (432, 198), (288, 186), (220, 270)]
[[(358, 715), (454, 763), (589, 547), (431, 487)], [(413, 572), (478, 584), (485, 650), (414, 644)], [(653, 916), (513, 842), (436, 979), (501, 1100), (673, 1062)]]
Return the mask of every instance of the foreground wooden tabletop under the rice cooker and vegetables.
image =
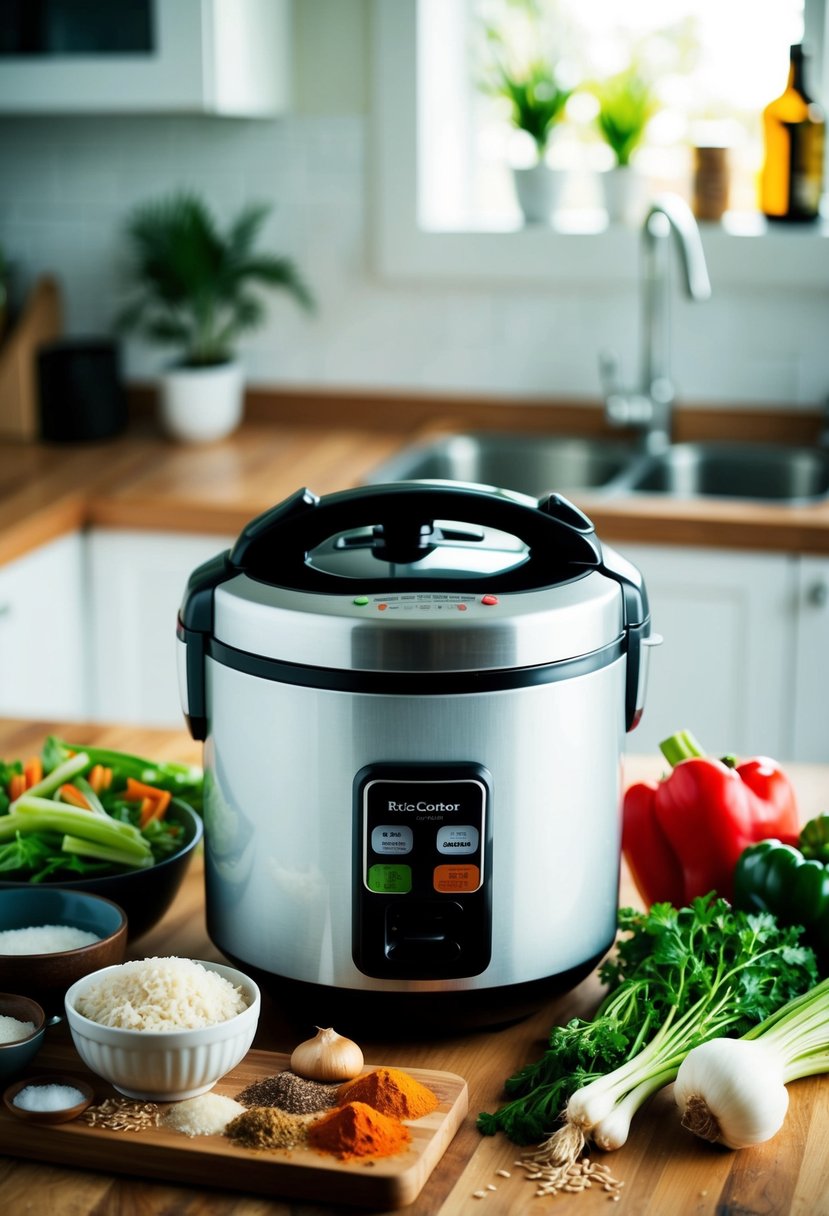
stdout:
[[(36, 750), (47, 731), (57, 731), (79, 743), (128, 749), (159, 759), (199, 762), (201, 749), (185, 733), (136, 727), (60, 726), (0, 721), (0, 756), (13, 758)], [(654, 776), (661, 761), (631, 758), (626, 781)], [(791, 765), (805, 818), (829, 806), (829, 770)], [(135, 957), (177, 953), (221, 959), (210, 944), (204, 922), (202, 863), (197, 858), (175, 903), (162, 923), (140, 939)], [(626, 872), (621, 900), (636, 902)], [(534, 1187), (513, 1162), (519, 1155), (502, 1136), (481, 1137), (475, 1128), (480, 1110), (494, 1110), (503, 1080), (521, 1064), (537, 1059), (549, 1028), (573, 1017), (590, 1017), (598, 1003), (594, 976), (537, 1014), (498, 1031), (478, 1031), (432, 1042), (363, 1041), (368, 1060), (389, 1060), (408, 1068), (456, 1073), (469, 1083), (469, 1115), (450, 1144), (419, 1198), (405, 1211), (416, 1216), (542, 1216), (554, 1205), (563, 1216), (591, 1216), (607, 1211), (600, 1192), (535, 1199)], [(60, 1031), (58, 1031), (60, 1032)], [(270, 1051), (289, 1051), (297, 1034), (280, 1009), (265, 997), (255, 1045)], [(766, 1144), (729, 1153), (695, 1141), (679, 1128), (670, 1092), (662, 1092), (639, 1111), (627, 1144), (602, 1155), (614, 1175), (625, 1182), (620, 1212), (628, 1216), (828, 1216), (829, 1214), (829, 1081), (811, 1077), (790, 1086), (790, 1107), (783, 1130)], [(118, 1143), (113, 1138), (113, 1152)], [(511, 1178), (496, 1176), (506, 1169)], [(473, 1193), (497, 1186), (485, 1200)], [(210, 1216), (334, 1216), (356, 1209), (332, 1209), (278, 1197), (264, 1199), (243, 1190), (202, 1192), (145, 1178), (109, 1177), (81, 1170), (0, 1158), (0, 1201), (5, 1212), (49, 1211), (55, 1216), (117, 1216), (141, 1212), (207, 1214)]]

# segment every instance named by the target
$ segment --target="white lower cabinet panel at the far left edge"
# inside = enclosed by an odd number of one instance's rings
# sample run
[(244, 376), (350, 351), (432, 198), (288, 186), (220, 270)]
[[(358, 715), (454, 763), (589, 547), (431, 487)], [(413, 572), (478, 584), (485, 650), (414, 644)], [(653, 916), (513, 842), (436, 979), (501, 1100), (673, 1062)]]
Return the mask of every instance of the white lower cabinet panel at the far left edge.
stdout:
[(80, 533), (0, 568), (0, 714), (89, 716)]

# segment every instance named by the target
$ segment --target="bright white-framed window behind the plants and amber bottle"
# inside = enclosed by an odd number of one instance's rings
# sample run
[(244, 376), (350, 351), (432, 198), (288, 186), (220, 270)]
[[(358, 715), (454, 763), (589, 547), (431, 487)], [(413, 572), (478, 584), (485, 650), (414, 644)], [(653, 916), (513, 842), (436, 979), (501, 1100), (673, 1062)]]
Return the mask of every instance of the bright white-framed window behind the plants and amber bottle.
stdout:
[[(771, 231), (755, 204), (760, 113), (783, 90), (790, 41), (805, 36), (812, 91), (825, 97), (825, 0), (546, 2), (563, 19), (563, 58), (574, 79), (600, 78), (628, 54), (656, 63), (662, 56), (660, 109), (638, 151), (650, 195), (670, 188), (689, 197), (690, 146), (707, 141), (703, 124), (716, 117), (731, 145), (732, 198), (705, 242), (728, 277), (829, 281), (827, 221)], [(518, 12), (517, 0), (376, 0), (377, 252), (387, 272), (574, 283), (636, 275), (636, 230), (609, 225), (603, 208), (599, 179), (609, 153), (587, 89), (571, 97), (562, 137), (547, 153), (566, 170), (560, 209), (552, 225), (523, 225), (511, 168), (526, 143), (519, 146), (519, 133), (479, 88), (481, 22), (517, 21)], [(739, 241), (746, 236), (767, 240)], [(597, 242), (602, 255), (587, 260)]]

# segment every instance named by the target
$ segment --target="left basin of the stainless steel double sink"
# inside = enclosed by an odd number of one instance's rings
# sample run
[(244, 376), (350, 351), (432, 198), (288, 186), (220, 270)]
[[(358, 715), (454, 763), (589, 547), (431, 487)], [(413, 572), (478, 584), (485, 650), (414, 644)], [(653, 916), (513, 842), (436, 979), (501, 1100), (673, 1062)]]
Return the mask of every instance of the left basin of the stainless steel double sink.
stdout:
[(540, 497), (549, 490), (593, 490), (631, 466), (624, 440), (480, 432), (413, 444), (371, 474), (373, 483), (478, 482)]

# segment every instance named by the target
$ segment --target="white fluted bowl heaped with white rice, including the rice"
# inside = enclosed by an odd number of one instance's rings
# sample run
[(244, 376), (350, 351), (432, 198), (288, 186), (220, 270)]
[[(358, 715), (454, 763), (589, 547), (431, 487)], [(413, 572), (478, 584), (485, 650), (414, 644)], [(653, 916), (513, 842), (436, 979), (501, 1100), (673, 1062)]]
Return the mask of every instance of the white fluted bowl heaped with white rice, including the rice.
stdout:
[(66, 993), (78, 1054), (129, 1098), (181, 1102), (247, 1055), (259, 989), (222, 963), (143, 958), (85, 975)]

